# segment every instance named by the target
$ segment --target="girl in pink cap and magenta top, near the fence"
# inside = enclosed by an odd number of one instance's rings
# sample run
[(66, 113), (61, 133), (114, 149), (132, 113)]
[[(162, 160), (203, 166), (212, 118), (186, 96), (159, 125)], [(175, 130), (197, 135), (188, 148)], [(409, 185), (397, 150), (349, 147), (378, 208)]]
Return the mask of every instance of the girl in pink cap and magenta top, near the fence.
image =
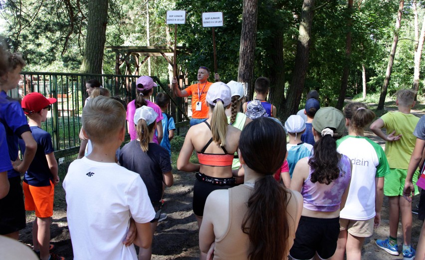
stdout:
[[(141, 76), (136, 80), (136, 88), (137, 88), (137, 98), (127, 105), (127, 127), (128, 127), (128, 133), (130, 134), (130, 140), (134, 140), (137, 138), (137, 132), (136, 132), (136, 125), (134, 124), (134, 114), (136, 112), (136, 109), (142, 106), (148, 106), (154, 109), (154, 111), (159, 115), (157, 118), (157, 129), (156, 129), (156, 135), (154, 135), (153, 142), (156, 144), (160, 144), (162, 137), (163, 137), (163, 131), (162, 131), (162, 119), (164, 118), (162, 116), (161, 108), (155, 104), (152, 103), (149, 100), (149, 97), (152, 96), (154, 90), (153, 87), (156, 87), (157, 84), (152, 80), (150, 76)], [(157, 137), (158, 136), (158, 137)]]

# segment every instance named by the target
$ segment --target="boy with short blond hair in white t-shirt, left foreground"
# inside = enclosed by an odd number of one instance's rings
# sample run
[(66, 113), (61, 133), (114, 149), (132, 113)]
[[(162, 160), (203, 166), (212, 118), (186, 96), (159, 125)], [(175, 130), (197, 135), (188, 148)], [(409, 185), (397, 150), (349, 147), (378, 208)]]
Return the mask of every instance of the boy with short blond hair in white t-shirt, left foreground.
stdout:
[(152, 244), (155, 211), (146, 186), (137, 173), (115, 163), (125, 117), (120, 102), (103, 96), (83, 109), (83, 133), (93, 151), (72, 162), (63, 181), (74, 260), (136, 260), (133, 240), (142, 248)]

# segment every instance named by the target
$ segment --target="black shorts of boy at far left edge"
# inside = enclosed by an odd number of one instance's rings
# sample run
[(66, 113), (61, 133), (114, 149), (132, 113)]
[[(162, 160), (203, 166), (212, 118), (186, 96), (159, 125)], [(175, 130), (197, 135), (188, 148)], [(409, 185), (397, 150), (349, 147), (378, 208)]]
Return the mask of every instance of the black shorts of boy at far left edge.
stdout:
[(20, 176), (9, 178), (9, 184), (9, 193), (0, 200), (0, 235), (19, 231), (26, 226)]

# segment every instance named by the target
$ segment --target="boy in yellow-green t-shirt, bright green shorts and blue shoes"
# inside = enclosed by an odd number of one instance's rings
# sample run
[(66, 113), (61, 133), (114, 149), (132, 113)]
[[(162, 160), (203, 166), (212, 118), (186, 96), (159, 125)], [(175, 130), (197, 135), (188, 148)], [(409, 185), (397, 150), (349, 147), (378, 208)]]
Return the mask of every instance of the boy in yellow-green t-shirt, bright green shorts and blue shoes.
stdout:
[[(386, 240), (377, 240), (376, 244), (391, 255), (399, 255), (397, 230), (401, 212), (404, 260), (415, 258), (415, 250), (411, 247), (412, 203), (403, 198), (409, 161), (416, 143), (413, 132), (419, 121), (419, 117), (410, 113), (415, 106), (415, 95), (416, 92), (411, 89), (397, 91), (398, 111), (386, 113), (370, 126), (370, 129), (377, 136), (386, 141), (385, 154), (391, 172), (391, 174), (385, 176), (384, 181), (384, 195), (389, 197), (390, 204), (390, 237)], [(387, 129), (387, 135), (382, 132), (382, 128)], [(418, 172), (415, 173), (414, 183), (417, 179)], [(415, 194), (419, 194), (416, 186)]]

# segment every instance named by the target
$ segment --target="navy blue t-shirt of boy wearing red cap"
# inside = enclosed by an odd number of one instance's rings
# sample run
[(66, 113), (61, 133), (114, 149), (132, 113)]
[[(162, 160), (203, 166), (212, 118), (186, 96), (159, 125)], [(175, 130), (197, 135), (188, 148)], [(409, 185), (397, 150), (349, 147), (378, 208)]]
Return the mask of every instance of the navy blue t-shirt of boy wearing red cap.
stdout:
[[(28, 171), (23, 176), (23, 181), (35, 187), (50, 186), (50, 180), (53, 182), (53, 175), (50, 172), (46, 154), (54, 152), (52, 138), (49, 133), (38, 126), (31, 126), (30, 129), (32, 137), (37, 143), (37, 151)], [(24, 153), (25, 143), (22, 139), (19, 140), (19, 146)]]

